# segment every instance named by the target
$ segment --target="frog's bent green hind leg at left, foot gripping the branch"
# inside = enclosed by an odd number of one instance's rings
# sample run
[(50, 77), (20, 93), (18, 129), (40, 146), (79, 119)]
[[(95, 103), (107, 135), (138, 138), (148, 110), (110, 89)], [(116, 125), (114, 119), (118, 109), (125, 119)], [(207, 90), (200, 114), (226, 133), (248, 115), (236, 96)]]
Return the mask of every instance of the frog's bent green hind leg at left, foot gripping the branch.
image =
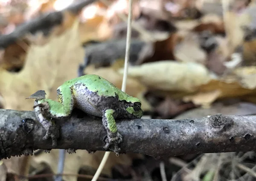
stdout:
[(34, 103), (35, 115), (44, 129), (46, 129), (46, 135), (43, 139), (52, 138), (52, 146), (57, 145), (57, 139), (59, 137), (59, 129), (52, 121), (52, 118), (60, 119), (69, 117), (74, 106), (70, 89), (61, 89), (60, 87), (57, 92), (58, 102), (51, 99), (41, 99), (36, 100)]

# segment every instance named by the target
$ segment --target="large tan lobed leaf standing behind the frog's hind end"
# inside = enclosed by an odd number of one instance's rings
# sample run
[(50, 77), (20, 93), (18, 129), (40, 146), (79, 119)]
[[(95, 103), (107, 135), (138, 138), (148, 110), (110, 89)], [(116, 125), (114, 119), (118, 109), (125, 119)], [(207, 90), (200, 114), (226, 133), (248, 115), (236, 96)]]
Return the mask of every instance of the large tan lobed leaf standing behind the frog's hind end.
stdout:
[(33, 101), (25, 98), (41, 89), (48, 98), (56, 99), (58, 86), (76, 77), (76, 69), (84, 57), (78, 25), (76, 21), (71, 29), (52, 37), (44, 46), (32, 45), (18, 74), (0, 70), (0, 92), (6, 100), (6, 109), (31, 110)]

